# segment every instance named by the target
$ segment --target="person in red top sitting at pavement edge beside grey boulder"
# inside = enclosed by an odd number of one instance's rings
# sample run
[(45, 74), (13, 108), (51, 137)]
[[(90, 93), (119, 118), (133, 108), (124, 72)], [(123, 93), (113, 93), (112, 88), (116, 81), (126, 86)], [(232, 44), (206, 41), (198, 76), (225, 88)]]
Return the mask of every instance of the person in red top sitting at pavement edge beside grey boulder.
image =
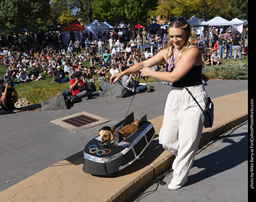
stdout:
[(89, 93), (86, 91), (82, 73), (76, 72), (74, 76), (75, 77), (70, 81), (70, 89), (72, 90), (72, 95), (78, 98), (89, 96)]

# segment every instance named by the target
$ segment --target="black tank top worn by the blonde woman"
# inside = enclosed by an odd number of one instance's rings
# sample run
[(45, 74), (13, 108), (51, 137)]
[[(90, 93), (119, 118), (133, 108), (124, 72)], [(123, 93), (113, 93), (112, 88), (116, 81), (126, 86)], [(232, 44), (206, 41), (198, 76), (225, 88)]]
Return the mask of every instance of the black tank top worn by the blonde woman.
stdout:
[[(168, 68), (169, 65), (167, 65)], [(174, 66), (175, 68), (175, 66)], [(170, 72), (172, 72), (173, 69), (171, 69)], [(182, 83), (184, 85), (188, 86), (194, 86), (194, 85), (201, 85), (202, 84), (202, 77), (201, 77), (201, 73), (202, 73), (202, 65), (194, 65), (194, 67), (190, 70), (189, 73), (186, 73), (186, 75), (184, 77), (182, 77), (180, 80), (182, 80)], [(182, 83), (179, 81), (176, 81), (173, 83), (174, 87), (184, 87), (184, 85), (182, 85)]]

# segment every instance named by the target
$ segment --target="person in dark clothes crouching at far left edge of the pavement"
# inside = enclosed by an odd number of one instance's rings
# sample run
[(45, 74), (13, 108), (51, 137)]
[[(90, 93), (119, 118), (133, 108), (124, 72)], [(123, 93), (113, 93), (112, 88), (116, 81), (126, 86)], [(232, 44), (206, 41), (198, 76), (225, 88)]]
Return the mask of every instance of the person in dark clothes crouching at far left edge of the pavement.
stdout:
[(14, 82), (6, 79), (4, 85), (0, 85), (0, 106), (2, 109), (12, 111), (15, 102), (18, 101), (18, 93), (14, 89)]

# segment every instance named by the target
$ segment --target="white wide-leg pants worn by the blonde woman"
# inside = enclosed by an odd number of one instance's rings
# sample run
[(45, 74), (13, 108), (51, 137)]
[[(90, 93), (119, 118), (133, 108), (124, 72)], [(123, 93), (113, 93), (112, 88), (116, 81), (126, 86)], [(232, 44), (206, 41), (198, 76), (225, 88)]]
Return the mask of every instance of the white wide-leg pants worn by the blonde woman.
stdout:
[[(207, 94), (203, 85), (188, 87), (202, 109), (206, 108)], [(185, 88), (172, 87), (164, 112), (159, 143), (176, 156), (171, 184), (186, 182), (198, 149), (203, 127), (202, 110)]]

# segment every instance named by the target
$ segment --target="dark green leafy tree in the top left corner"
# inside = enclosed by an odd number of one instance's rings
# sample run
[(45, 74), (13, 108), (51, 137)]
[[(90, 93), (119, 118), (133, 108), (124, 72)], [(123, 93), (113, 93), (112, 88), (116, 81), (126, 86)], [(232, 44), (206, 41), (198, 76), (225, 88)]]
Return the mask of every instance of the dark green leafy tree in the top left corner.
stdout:
[(1, 28), (6, 34), (46, 30), (47, 16), (50, 12), (49, 0), (1, 0)]

